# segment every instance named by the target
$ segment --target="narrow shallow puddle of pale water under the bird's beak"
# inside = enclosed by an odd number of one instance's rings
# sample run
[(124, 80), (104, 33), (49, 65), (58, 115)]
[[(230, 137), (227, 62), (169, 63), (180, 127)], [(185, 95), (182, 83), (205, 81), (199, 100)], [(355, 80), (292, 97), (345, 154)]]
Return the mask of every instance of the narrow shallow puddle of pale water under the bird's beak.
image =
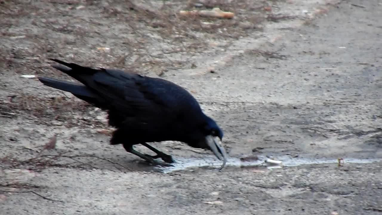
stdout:
[[(275, 165), (265, 162), (268, 158), (258, 156), (258, 159), (242, 161), (240, 158), (229, 157), (227, 159), (227, 164), (225, 168), (230, 167), (239, 167), (239, 168), (249, 168), (249, 167), (259, 167), (259, 168), (282, 168), (288, 166), (299, 166), (299, 165), (312, 165), (312, 164), (322, 164), (322, 163), (338, 163), (338, 159), (325, 159), (325, 158), (292, 158), (291, 156), (279, 156), (278, 161), (282, 161), (281, 165)], [(346, 163), (372, 163), (382, 161), (381, 158), (343, 158), (341, 163), (346, 165)], [(156, 167), (160, 169), (163, 173), (171, 173), (175, 171), (181, 171), (186, 169), (195, 169), (195, 168), (216, 168), (217, 171), (222, 165), (222, 161), (214, 159), (212, 157), (207, 158), (177, 158), (176, 163), (173, 163), (174, 166), (170, 167)], [(222, 169), (224, 171), (224, 169)]]

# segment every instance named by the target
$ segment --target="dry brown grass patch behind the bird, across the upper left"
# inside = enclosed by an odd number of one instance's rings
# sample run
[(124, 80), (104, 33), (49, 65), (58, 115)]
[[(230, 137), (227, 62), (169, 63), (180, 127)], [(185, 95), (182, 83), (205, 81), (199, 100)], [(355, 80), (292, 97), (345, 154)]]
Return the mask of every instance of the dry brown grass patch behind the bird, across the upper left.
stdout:
[[(267, 20), (263, 1), (204, 1), (202, 8), (195, 8), (196, 2), (3, 1), (0, 34), (5, 36), (3, 42), (9, 42), (5, 48), (10, 51), (10, 63), (2, 68), (16, 73), (28, 68), (43, 74), (48, 72), (41, 66), (47, 63), (46, 58), (60, 57), (75, 62), (83, 59), (86, 65), (161, 75), (168, 69), (191, 67), (194, 56), (213, 54), (210, 42), (229, 44), (257, 31), (256, 25)], [(235, 18), (178, 16), (180, 10), (212, 7), (234, 12)], [(110, 52), (95, 49), (102, 44), (110, 47)], [(18, 45), (21, 47), (15, 48)], [(61, 76), (57, 72), (54, 75)]]

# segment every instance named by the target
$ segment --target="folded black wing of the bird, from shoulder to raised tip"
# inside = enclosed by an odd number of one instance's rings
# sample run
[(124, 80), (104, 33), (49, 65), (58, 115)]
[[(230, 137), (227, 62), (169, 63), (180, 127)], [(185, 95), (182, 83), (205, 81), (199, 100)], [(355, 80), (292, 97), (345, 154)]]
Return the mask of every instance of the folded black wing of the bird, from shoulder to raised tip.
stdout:
[(95, 106), (108, 109), (110, 125), (147, 125), (152, 128), (155, 122), (160, 127), (184, 115), (201, 112), (194, 97), (170, 81), (52, 60), (69, 67), (53, 66), (83, 83), (96, 95), (94, 97), (98, 97), (95, 103), (99, 104)]

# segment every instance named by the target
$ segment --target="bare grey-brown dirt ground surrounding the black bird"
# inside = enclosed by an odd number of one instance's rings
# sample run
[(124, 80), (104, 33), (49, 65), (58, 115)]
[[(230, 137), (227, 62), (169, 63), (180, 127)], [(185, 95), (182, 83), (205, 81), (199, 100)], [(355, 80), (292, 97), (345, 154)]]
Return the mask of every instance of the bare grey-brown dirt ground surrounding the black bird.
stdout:
[[(382, 3), (238, 2), (0, 1), (0, 211), (380, 214)], [(176, 13), (212, 7), (235, 18)], [(180, 171), (108, 145), (103, 112), (20, 77), (69, 80), (48, 57), (184, 86), (222, 126), (227, 168), (179, 142), (154, 145), (195, 164)], [(250, 156), (301, 165), (240, 163)]]

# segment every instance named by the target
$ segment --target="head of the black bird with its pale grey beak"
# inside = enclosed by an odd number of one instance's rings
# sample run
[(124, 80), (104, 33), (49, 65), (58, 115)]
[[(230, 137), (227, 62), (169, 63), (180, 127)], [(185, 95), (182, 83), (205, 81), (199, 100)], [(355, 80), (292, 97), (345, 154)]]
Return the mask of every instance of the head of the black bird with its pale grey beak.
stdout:
[[(223, 130), (216, 124), (216, 122), (210, 117), (206, 116), (206, 124), (204, 124), (204, 135), (205, 138), (202, 141), (203, 145), (208, 146), (208, 149), (211, 150), (214, 155), (223, 161), (223, 165), (220, 168), (223, 169), (225, 163), (227, 162), (227, 153), (225, 152), (223, 146), (221, 145), (223, 139)], [(207, 148), (207, 147), (206, 147)]]

